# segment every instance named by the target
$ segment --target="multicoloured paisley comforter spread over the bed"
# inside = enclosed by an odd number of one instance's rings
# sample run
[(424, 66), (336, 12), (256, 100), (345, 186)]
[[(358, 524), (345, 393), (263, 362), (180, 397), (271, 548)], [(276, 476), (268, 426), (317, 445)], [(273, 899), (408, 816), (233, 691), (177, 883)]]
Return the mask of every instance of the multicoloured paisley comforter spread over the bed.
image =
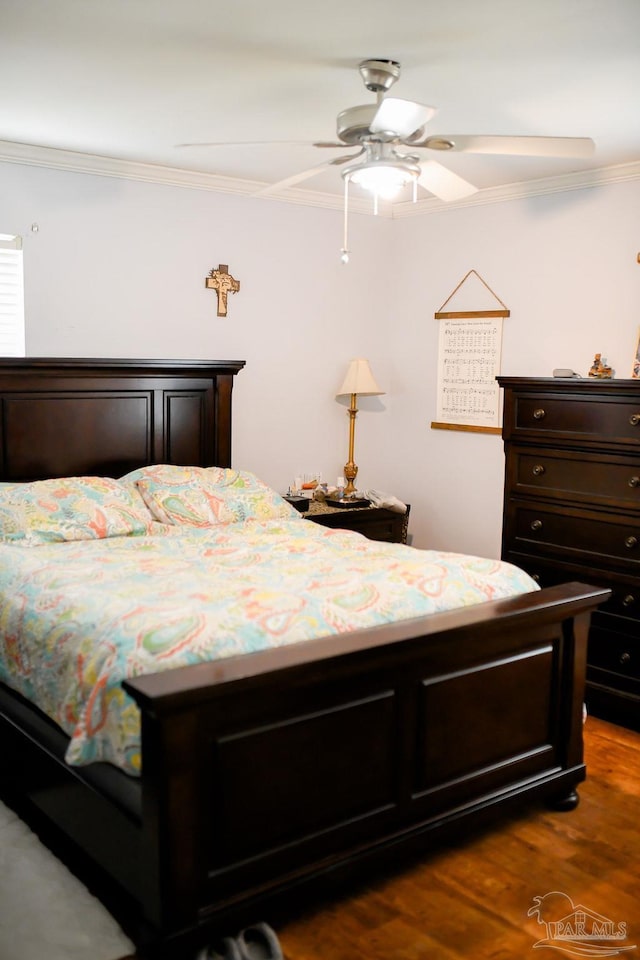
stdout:
[(70, 764), (139, 772), (126, 677), (537, 589), (500, 561), (301, 518), (153, 526), (144, 536), (0, 545), (0, 680), (69, 735)]

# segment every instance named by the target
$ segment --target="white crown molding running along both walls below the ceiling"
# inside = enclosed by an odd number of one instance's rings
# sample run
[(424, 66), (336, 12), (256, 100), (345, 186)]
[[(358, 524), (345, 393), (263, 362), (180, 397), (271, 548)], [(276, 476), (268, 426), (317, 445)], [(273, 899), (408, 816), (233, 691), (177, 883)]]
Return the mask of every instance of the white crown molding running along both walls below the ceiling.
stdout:
[[(141, 180), (147, 183), (160, 183), (165, 186), (210, 190), (215, 193), (255, 197), (261, 200), (278, 200), (286, 203), (297, 203), (302, 206), (324, 207), (334, 210), (343, 210), (344, 208), (344, 197), (341, 194), (321, 193), (315, 190), (289, 187), (279, 193), (270, 193), (259, 197), (257, 194), (266, 186), (260, 180), (241, 180), (196, 170), (185, 170), (181, 167), (166, 167), (161, 164), (101, 157), (88, 153), (78, 153), (73, 150), (60, 150), (57, 147), (14, 143), (9, 140), (0, 140), (0, 161), (67, 170), (71, 173), (87, 173), (100, 177)], [(455, 210), (460, 207), (499, 203), (504, 200), (521, 200), (526, 197), (564, 193), (568, 190), (584, 190), (589, 187), (621, 183), (627, 180), (640, 180), (640, 161), (595, 170), (584, 170), (580, 173), (570, 173), (561, 177), (547, 177), (542, 180), (510, 183), (501, 187), (488, 187), (479, 190), (478, 193), (470, 197), (466, 197), (464, 200), (451, 203), (445, 203), (436, 197), (419, 200), (417, 203), (391, 204), (381, 202), (378, 213), (382, 217), (403, 219), (437, 213), (442, 210)], [(350, 196), (349, 212), (372, 214), (372, 204), (366, 199)]]

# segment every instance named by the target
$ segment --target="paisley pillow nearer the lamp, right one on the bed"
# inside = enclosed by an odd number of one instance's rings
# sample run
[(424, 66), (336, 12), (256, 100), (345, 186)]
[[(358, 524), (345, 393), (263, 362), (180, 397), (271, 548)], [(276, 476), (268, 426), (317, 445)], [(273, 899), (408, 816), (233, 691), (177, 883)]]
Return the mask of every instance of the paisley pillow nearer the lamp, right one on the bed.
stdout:
[(295, 507), (247, 471), (158, 464), (136, 473), (142, 476), (135, 485), (161, 523), (209, 527), (243, 520), (301, 519)]

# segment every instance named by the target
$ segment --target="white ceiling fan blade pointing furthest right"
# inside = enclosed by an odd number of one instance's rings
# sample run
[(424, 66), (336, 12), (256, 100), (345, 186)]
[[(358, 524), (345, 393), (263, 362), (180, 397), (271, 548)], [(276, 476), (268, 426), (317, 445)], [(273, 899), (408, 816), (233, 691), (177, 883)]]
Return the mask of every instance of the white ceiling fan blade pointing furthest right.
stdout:
[(504, 154), (516, 157), (591, 157), (595, 143), (589, 137), (493, 137), (438, 134), (414, 147), (464, 153)]

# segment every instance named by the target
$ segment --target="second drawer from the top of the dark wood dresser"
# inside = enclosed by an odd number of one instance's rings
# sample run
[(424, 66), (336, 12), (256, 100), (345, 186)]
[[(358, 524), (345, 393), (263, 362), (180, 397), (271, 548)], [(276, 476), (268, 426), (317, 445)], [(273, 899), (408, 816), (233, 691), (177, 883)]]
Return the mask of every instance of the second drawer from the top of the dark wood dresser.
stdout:
[(618, 505), (640, 516), (640, 457), (514, 445), (507, 455), (514, 493)]

